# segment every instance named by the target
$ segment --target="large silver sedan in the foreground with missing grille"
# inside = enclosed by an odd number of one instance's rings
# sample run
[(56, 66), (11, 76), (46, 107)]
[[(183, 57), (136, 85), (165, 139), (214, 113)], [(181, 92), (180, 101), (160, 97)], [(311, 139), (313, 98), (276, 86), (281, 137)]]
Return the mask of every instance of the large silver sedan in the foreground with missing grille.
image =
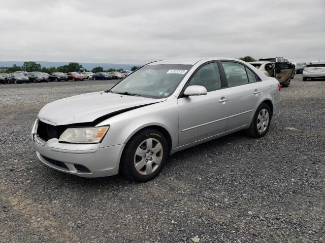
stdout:
[(263, 137), (280, 101), (279, 82), (241, 60), (156, 61), (109, 90), (45, 105), (31, 139), (55, 170), (144, 182), (182, 149), (243, 129)]

